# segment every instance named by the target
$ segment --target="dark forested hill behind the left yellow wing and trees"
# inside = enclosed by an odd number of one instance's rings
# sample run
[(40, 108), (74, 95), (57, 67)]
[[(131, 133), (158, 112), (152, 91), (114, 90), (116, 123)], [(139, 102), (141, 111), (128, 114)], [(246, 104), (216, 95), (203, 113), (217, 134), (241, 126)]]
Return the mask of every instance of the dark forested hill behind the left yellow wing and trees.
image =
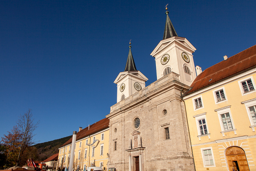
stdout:
[(45, 159), (49, 158), (50, 156), (58, 153), (59, 147), (62, 144), (64, 144), (65, 142), (67, 142), (71, 137), (72, 137), (72, 135), (64, 137), (64, 138), (60, 138), (57, 140), (33, 145), (33, 147), (37, 148), (37, 152), (38, 152), (38, 157), (35, 158), (34, 160), (44, 161)]

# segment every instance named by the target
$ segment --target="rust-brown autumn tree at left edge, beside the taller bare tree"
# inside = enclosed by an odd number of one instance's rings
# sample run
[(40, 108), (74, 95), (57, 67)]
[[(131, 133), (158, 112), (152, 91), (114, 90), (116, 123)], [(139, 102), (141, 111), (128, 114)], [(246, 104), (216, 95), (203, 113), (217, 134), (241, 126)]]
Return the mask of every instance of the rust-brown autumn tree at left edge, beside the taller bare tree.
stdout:
[(17, 126), (11, 129), (11, 132), (7, 131), (8, 134), (2, 137), (2, 146), (4, 148), (3, 152), (6, 155), (4, 161), (4, 167), (15, 166), (18, 161), (19, 148), (22, 143), (22, 133)]

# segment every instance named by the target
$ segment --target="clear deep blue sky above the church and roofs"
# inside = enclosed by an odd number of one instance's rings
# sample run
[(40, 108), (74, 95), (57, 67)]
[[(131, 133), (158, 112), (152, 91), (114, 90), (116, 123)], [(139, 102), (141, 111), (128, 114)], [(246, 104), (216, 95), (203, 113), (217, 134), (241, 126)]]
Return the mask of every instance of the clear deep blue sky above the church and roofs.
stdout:
[(0, 1), (0, 136), (32, 109), (39, 143), (72, 135), (110, 112), (131, 40), (138, 70), (156, 81), (150, 53), (165, 5), (205, 70), (255, 45), (253, 1)]

